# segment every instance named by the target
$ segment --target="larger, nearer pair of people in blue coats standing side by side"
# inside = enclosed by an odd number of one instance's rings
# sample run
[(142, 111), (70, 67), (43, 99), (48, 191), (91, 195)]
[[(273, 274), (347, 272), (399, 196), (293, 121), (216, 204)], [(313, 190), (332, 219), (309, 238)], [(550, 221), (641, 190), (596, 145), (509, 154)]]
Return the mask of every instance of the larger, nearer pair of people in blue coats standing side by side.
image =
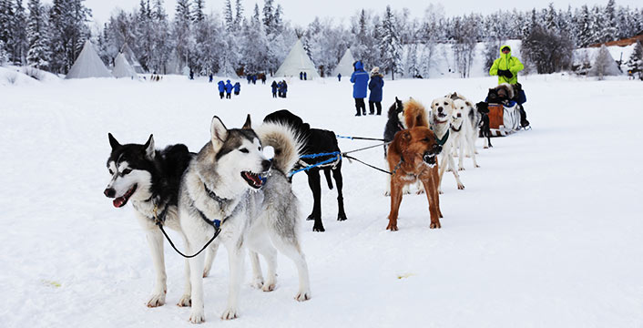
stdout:
[[(366, 115), (364, 98), (366, 97), (367, 87), (371, 90), (368, 99), (369, 114), (382, 115), (382, 88), (384, 87), (384, 79), (383, 75), (380, 74), (380, 67), (373, 67), (370, 75), (364, 70), (364, 65), (359, 60), (353, 63), (352, 67), (354, 68), (351, 76), (352, 97), (355, 98), (355, 109), (357, 109), (355, 116)], [(341, 80), (342, 76), (338, 76), (338, 78)], [(375, 113), (375, 108), (377, 108), (377, 113)]]

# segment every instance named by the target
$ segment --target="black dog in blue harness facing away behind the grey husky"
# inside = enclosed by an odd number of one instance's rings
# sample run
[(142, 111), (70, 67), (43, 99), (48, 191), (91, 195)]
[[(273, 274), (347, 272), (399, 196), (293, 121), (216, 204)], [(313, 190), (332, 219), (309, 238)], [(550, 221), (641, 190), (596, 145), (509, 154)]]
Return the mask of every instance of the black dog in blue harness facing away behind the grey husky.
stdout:
[[(282, 124), (287, 124), (294, 128), (303, 141), (303, 149), (301, 155), (311, 155), (311, 154), (322, 154), (322, 153), (333, 153), (341, 152), (339, 145), (337, 144), (337, 137), (335, 133), (329, 130), (320, 129), (320, 128), (311, 128), (310, 124), (304, 123), (303, 120), (292, 114), (289, 110), (281, 109), (276, 112), (270, 113), (266, 118), (263, 118), (264, 122), (279, 122)], [(304, 158), (300, 159), (299, 162), (295, 165), (296, 169), (302, 169), (309, 165), (314, 165), (320, 163), (324, 160), (332, 159), (334, 156), (322, 156), (314, 159)], [(312, 191), (312, 212), (306, 220), (314, 220), (312, 226), (312, 231), (326, 231), (322, 223), (322, 183), (320, 179), (320, 171), (323, 171), (324, 176), (326, 177), (326, 182), (328, 183), (328, 188), (332, 190), (332, 179), (335, 179), (335, 185), (337, 185), (337, 220), (346, 220), (346, 213), (344, 211), (343, 203), (343, 179), (342, 179), (342, 158), (338, 158), (330, 163), (322, 165), (320, 167), (314, 167), (312, 169), (306, 170), (306, 175), (308, 176), (308, 186)], [(331, 178), (332, 174), (332, 178)]]

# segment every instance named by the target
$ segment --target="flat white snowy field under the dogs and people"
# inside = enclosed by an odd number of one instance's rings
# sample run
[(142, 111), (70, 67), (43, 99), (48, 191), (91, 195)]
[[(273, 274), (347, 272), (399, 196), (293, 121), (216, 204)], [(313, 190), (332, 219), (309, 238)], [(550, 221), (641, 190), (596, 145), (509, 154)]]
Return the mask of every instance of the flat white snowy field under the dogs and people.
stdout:
[[(386, 80), (383, 110), (395, 96), (428, 105), (456, 90), (479, 101), (495, 81)], [(426, 198), (413, 194), (403, 198), (400, 231), (385, 231), (384, 174), (344, 162), (349, 220), (335, 220), (335, 190), (322, 186), (326, 232), (302, 224), (311, 301), (293, 300), (297, 273), (280, 256), (277, 289), (244, 283), (240, 318), (220, 321), (228, 295), (222, 248), (204, 281), (204, 326), (643, 326), (643, 85), (560, 75), (521, 82), (533, 130), (494, 138), (493, 149), (478, 140), (481, 168), (465, 161), (465, 190), (445, 174), (441, 230), (428, 229)], [(198, 151), (213, 115), (239, 128), (248, 113), (258, 124), (288, 108), (315, 128), (383, 135), (385, 114), (353, 116), (346, 80), (291, 80), (287, 99), (241, 81), (240, 97), (219, 100), (215, 87), (185, 77), (0, 85), (0, 326), (191, 326), (189, 308), (174, 305), (183, 260), (167, 242), (168, 303), (145, 306), (154, 284), (145, 235), (130, 205), (115, 209), (103, 195), (107, 132), (123, 143), (153, 133), (159, 148), (181, 142)], [(342, 150), (373, 144), (340, 141)], [(381, 148), (355, 157), (383, 166)], [(307, 215), (305, 174), (293, 189)]]

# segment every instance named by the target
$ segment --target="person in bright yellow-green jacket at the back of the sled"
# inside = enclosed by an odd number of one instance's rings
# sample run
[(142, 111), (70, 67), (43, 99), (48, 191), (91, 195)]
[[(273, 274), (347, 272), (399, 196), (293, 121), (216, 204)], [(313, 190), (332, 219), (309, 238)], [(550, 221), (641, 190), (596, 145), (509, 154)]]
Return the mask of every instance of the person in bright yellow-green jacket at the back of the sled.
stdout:
[(523, 128), (529, 126), (529, 121), (526, 118), (525, 108), (523, 103), (526, 102), (525, 91), (518, 83), (518, 72), (525, 68), (523, 63), (515, 56), (511, 56), (511, 47), (501, 46), (500, 57), (495, 59), (494, 65), (489, 69), (489, 75), (498, 76), (498, 84), (508, 83), (515, 89), (515, 102), (520, 109), (520, 125)]

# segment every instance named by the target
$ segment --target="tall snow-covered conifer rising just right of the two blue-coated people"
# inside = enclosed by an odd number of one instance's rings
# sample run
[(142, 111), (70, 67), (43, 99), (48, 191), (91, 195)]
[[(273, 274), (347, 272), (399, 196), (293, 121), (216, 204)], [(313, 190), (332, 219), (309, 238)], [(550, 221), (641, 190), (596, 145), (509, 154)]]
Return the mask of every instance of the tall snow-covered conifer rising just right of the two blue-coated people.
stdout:
[(385, 72), (391, 72), (391, 78), (395, 79), (395, 73), (403, 74), (402, 44), (400, 42), (400, 31), (396, 28), (395, 16), (391, 10), (391, 5), (386, 6), (380, 31), (382, 67)]

